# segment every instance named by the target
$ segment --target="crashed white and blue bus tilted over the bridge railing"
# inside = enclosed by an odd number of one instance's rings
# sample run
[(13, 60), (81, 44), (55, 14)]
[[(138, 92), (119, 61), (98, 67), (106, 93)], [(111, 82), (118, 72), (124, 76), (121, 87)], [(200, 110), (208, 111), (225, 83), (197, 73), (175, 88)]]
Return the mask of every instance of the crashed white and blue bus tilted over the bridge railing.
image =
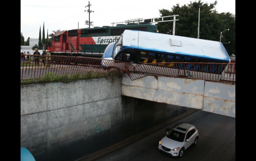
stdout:
[[(230, 63), (230, 57), (221, 42), (134, 30), (125, 30), (115, 43), (109, 44), (102, 58), (134, 65), (169, 63), (163, 67), (176, 69), (174, 76), (182, 76), (186, 72), (187, 76), (195, 79), (198, 79), (195, 71), (221, 74), (227, 65), (217, 63)], [(104, 62), (102, 65), (108, 66)], [(205, 63), (213, 64), (206, 66)], [(219, 79), (219, 76), (215, 77)]]

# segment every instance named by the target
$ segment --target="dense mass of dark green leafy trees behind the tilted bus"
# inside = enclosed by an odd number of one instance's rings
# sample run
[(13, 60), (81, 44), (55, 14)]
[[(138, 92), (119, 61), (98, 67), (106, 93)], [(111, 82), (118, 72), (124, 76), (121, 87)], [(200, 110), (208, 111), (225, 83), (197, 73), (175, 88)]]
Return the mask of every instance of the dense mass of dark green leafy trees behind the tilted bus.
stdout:
[[(225, 29), (230, 29), (223, 34), (221, 42), (225, 46), (228, 54), (235, 53), (235, 18), (230, 13), (217, 13), (214, 3), (190, 2), (188, 5), (180, 6), (176, 4), (171, 10), (159, 10), (162, 16), (179, 15), (175, 24), (175, 35), (190, 38), (197, 38), (198, 30), (198, 10), (200, 7), (200, 39), (219, 41), (220, 32)], [(172, 20), (173, 18), (166, 18), (165, 20)], [(162, 21), (155, 19), (155, 21)], [(157, 24), (159, 33), (173, 34), (173, 22), (161, 22)]]

